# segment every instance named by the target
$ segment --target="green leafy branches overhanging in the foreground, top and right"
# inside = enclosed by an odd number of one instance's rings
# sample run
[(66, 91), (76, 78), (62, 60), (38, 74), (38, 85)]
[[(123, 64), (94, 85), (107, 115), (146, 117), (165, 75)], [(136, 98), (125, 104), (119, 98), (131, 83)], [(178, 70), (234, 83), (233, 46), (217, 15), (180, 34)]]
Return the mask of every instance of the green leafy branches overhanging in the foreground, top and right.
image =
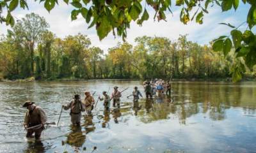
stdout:
[[(256, 64), (256, 36), (252, 28), (256, 24), (256, 1), (255, 0), (146, 0), (145, 5), (142, 0), (63, 0), (65, 3), (74, 7), (71, 11), (72, 20), (76, 20), (77, 15), (84, 17), (88, 28), (95, 27), (99, 39), (102, 40), (112, 31), (114, 36), (127, 37), (127, 28), (132, 21), (142, 25), (143, 21), (148, 20), (147, 8), (155, 10), (154, 19), (166, 20), (166, 13), (172, 13), (172, 6), (180, 9), (180, 22), (187, 24), (195, 20), (198, 24), (203, 24), (205, 13), (209, 13), (210, 6), (220, 6), (222, 11), (231, 9), (237, 10), (239, 3), (248, 4), (248, 15), (244, 18), (244, 23), (248, 25), (246, 31), (240, 31), (239, 27), (225, 24), (232, 28), (230, 36), (220, 36), (213, 40), (212, 48), (214, 51), (221, 51), (227, 55), (232, 48), (236, 50), (236, 57), (239, 60), (237, 69), (234, 73), (237, 77), (245, 71), (245, 68), (252, 69)], [(58, 0), (40, 0), (44, 3), (47, 11), (51, 11)], [(0, 22), (6, 25), (14, 25), (12, 11), (20, 5), (20, 8), (28, 9), (26, 0), (4, 0), (0, 2)], [(3, 16), (6, 12), (6, 17)], [(216, 36), (217, 37), (217, 36)]]

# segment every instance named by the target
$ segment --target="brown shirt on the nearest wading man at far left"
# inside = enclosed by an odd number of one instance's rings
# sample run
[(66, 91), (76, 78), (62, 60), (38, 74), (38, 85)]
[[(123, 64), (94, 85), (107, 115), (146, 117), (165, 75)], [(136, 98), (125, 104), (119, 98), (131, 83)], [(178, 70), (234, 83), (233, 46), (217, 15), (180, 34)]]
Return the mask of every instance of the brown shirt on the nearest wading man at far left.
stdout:
[(40, 106), (35, 106), (35, 109), (31, 112), (26, 112), (24, 125), (36, 126), (38, 124), (45, 124), (47, 120), (44, 110)]

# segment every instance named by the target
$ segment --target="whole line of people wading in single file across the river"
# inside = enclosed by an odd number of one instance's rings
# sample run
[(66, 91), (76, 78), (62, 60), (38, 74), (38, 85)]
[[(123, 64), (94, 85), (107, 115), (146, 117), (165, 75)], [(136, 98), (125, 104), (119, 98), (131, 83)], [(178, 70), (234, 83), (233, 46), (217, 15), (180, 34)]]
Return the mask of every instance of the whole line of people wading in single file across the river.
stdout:
[[(166, 93), (169, 92), (168, 90), (170, 89), (170, 84), (169, 82), (167, 84), (164, 84), (163, 89), (160, 90), (158, 85), (163, 85), (162, 80), (156, 80), (156, 82), (144, 82), (144, 89), (146, 93), (146, 97), (156, 95), (156, 91), (159, 93), (162, 93), (164, 90), (164, 87), (167, 88)], [(126, 89), (124, 89), (125, 91)], [(111, 100), (113, 99), (113, 107), (120, 108), (120, 98), (122, 97), (122, 92), (123, 91), (118, 91), (118, 87), (114, 87), (114, 91), (112, 92), (111, 96), (108, 95), (108, 92), (103, 91), (102, 97), (98, 97), (97, 102), (103, 101), (103, 106), (104, 106), (104, 111), (110, 111), (110, 106), (111, 106)], [(93, 93), (94, 94), (94, 93)], [(169, 92), (170, 94), (170, 92)], [(79, 94), (75, 94), (74, 98), (70, 103), (67, 105), (62, 105), (62, 109), (64, 110), (70, 110), (70, 117), (71, 117), (71, 122), (74, 126), (80, 126), (81, 124), (81, 117), (82, 117), (82, 112), (86, 112), (88, 115), (92, 115), (92, 110), (94, 107), (97, 106), (95, 104), (95, 99), (93, 98), (93, 95), (90, 94), (89, 91), (84, 92), (84, 99), (82, 100)], [(138, 90), (138, 87), (134, 87), (134, 91), (132, 91), (132, 94), (130, 96), (133, 96), (133, 101), (134, 101), (134, 110), (135, 110), (135, 115), (137, 115), (138, 109), (140, 109), (140, 106), (138, 105), (138, 99), (140, 97), (142, 98), (141, 92)], [(127, 96), (129, 98), (129, 96)], [(138, 105), (138, 106), (137, 106)], [(36, 106), (35, 103), (31, 101), (26, 101), (23, 105), (23, 107), (27, 108), (28, 111), (26, 112), (25, 119), (24, 119), (24, 128), (27, 130), (27, 138), (32, 138), (33, 133), (35, 133), (35, 139), (39, 140), (42, 131), (45, 129), (45, 125), (49, 124), (47, 123), (47, 116), (44, 112), (44, 110), (40, 106)], [(59, 118), (60, 120), (60, 118)], [(58, 124), (57, 124), (58, 126)]]

